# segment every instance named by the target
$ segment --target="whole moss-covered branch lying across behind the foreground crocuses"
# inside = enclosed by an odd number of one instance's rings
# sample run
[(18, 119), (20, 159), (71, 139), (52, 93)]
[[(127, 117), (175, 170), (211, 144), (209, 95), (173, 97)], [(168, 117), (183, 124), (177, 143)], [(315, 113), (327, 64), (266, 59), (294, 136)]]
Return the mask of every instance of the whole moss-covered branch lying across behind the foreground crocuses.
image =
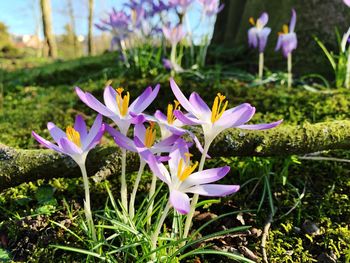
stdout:
[[(350, 148), (350, 121), (301, 126), (281, 125), (267, 131), (230, 129), (220, 134), (209, 150), (211, 157), (288, 156)], [(198, 154), (197, 154), (197, 157)], [(139, 158), (128, 153), (127, 169), (136, 171)], [(95, 180), (121, 171), (117, 147), (99, 147), (88, 156), (87, 170)], [(0, 189), (37, 179), (79, 177), (74, 161), (51, 150), (20, 150), (0, 145)]]

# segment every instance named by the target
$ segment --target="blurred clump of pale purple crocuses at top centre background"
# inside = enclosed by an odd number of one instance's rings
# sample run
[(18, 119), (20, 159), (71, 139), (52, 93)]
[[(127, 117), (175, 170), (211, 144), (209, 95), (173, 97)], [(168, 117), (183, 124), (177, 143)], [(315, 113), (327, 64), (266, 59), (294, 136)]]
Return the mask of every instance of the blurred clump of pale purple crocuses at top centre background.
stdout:
[[(96, 27), (102, 31), (111, 32), (113, 38), (111, 48), (117, 45), (123, 56), (123, 61), (129, 65), (126, 54), (126, 41), (135, 42), (135, 39), (144, 41), (149, 37), (157, 38), (162, 36), (170, 43), (170, 57), (163, 58), (163, 66), (173, 72), (184, 71), (181, 67), (181, 55), (176, 54), (178, 43), (188, 37), (191, 48), (191, 63), (194, 64), (194, 36), (193, 27), (190, 25), (189, 10), (198, 3), (201, 7), (200, 23), (194, 27), (198, 28), (201, 23), (213, 24), (215, 15), (220, 12), (223, 5), (219, 5), (219, 0), (132, 0), (124, 4), (122, 10), (113, 9), (108, 14), (109, 19), (101, 19)], [(177, 17), (177, 18), (175, 18)], [(175, 22), (175, 24), (174, 24)], [(207, 26), (207, 25), (203, 25)], [(186, 30), (184, 30), (186, 28)], [(206, 49), (210, 36), (203, 37), (203, 49), (199, 52), (198, 63), (205, 61)], [(132, 50), (133, 44), (130, 44)]]

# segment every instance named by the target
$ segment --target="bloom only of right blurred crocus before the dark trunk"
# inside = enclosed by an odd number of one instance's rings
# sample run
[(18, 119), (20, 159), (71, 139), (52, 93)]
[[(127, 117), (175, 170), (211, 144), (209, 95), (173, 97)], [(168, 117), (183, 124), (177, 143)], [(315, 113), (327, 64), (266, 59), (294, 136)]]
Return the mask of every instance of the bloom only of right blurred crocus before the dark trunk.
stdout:
[(285, 57), (288, 57), (298, 45), (297, 35), (294, 32), (296, 21), (297, 14), (295, 10), (292, 9), (292, 18), (289, 27), (288, 25), (283, 25), (282, 32), (280, 32), (278, 36), (276, 51), (282, 48), (282, 53)]

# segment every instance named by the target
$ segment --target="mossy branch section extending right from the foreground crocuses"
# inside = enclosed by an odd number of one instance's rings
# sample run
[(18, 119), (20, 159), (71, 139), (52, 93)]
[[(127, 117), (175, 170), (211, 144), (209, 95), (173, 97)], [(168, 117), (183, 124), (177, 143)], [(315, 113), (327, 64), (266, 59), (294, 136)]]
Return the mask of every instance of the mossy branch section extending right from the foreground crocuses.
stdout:
[(350, 121), (283, 123), (266, 131), (231, 129), (211, 146), (212, 156), (287, 156), (323, 150), (350, 149)]

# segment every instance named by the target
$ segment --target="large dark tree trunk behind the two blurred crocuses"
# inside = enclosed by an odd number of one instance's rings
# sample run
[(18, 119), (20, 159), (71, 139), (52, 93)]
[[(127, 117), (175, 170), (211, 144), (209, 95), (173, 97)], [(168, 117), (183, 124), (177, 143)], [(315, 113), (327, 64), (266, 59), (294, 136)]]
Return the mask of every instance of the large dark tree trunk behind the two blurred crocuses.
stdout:
[[(314, 41), (314, 36), (338, 52), (335, 28), (338, 28), (340, 35), (343, 35), (350, 26), (350, 9), (342, 0), (221, 0), (221, 2), (225, 7), (218, 14), (211, 48), (219, 46), (233, 51), (243, 50), (242, 59), (255, 65), (258, 53), (248, 48), (247, 31), (251, 27), (249, 18), (256, 19), (266, 11), (269, 14), (267, 26), (272, 29), (265, 52), (266, 66), (269, 68), (282, 70), (286, 68), (286, 61), (281, 52), (275, 52), (274, 49), (282, 25), (289, 24), (292, 8), (297, 12), (295, 31), (299, 44), (293, 53), (293, 63), (295, 70), (300, 73), (329, 73), (331, 67)], [(251, 57), (247, 58), (247, 55)], [(223, 62), (230, 57), (233, 58), (232, 55), (225, 54), (219, 59)]]

